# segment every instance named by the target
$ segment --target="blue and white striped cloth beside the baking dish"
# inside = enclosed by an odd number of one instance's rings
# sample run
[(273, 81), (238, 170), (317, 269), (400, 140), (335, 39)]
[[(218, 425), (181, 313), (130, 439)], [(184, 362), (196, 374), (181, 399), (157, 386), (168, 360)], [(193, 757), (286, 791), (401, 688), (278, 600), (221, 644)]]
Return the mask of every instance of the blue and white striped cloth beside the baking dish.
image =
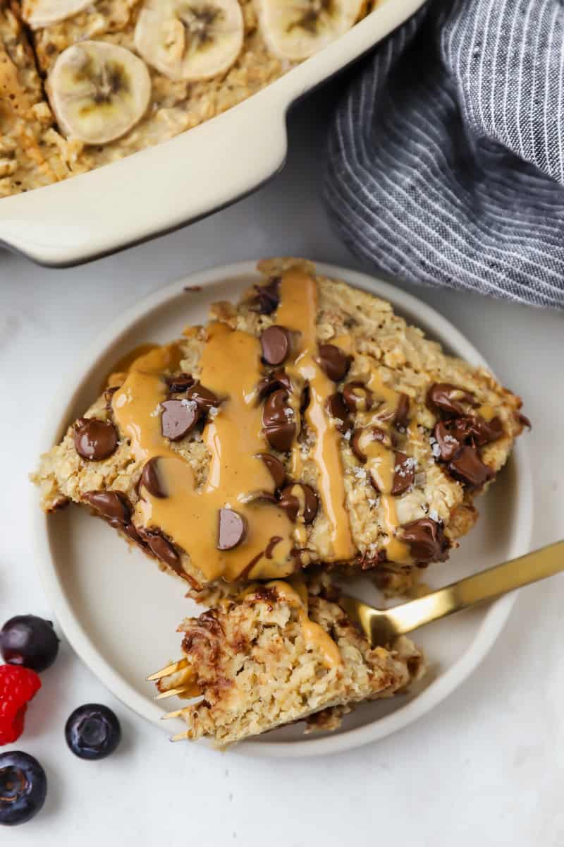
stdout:
[(326, 202), (388, 274), (564, 308), (562, 0), (440, 0), (396, 30), (337, 109)]

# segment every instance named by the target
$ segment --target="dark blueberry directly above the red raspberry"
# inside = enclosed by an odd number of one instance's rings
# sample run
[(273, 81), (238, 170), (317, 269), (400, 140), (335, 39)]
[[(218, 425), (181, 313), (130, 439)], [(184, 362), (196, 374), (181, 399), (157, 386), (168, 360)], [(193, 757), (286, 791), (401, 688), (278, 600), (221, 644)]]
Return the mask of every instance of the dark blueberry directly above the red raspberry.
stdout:
[(9, 665), (39, 673), (57, 658), (58, 639), (51, 621), (36, 615), (11, 617), (0, 629), (0, 653)]

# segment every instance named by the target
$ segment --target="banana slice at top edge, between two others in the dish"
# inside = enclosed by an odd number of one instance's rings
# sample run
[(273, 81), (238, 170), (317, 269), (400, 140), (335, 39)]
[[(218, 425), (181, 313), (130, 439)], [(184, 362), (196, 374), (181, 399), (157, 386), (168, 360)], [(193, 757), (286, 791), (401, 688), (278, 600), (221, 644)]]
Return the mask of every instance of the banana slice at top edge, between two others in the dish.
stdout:
[(243, 36), (238, 0), (147, 0), (135, 48), (170, 80), (209, 80), (231, 67)]

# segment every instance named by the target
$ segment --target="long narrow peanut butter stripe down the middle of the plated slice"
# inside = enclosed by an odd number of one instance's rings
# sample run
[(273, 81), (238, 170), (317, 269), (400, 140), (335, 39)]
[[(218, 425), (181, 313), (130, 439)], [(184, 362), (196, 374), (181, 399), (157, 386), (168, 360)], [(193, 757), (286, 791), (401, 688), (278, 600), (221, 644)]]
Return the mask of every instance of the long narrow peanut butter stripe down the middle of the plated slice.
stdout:
[[(331, 526), (332, 554), (327, 561), (336, 562), (353, 558), (355, 547), (351, 537), (348, 514), (345, 509), (345, 488), (339, 444), (341, 436), (331, 428), (326, 412), (326, 401), (335, 391), (335, 385), (315, 362), (317, 338), (317, 287), (315, 280), (304, 271), (293, 269), (282, 276), (277, 324), (300, 333), (293, 364), (287, 364), (291, 377), (298, 374), (309, 383), (309, 406), (305, 419), (315, 432), (314, 461), (317, 467), (317, 487), (323, 511)], [(295, 409), (294, 409), (295, 413)], [(293, 463), (298, 465), (294, 447)]]

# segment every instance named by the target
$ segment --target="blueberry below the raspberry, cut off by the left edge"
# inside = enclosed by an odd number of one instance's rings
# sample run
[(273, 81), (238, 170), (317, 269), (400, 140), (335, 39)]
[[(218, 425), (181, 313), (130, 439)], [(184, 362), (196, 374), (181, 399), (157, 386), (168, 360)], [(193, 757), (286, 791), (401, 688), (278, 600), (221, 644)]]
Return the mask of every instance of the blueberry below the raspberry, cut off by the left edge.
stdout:
[(28, 753), (0, 753), (0, 823), (15, 826), (29, 821), (41, 809), (47, 794), (47, 777)]

